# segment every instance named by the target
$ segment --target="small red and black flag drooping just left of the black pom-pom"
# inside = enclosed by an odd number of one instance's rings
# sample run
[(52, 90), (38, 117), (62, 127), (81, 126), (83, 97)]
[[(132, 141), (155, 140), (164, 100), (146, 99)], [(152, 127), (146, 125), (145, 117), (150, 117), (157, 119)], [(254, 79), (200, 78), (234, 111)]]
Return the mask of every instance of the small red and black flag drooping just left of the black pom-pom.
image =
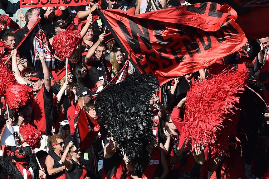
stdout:
[(85, 109), (82, 108), (76, 128), (73, 136), (74, 145), (82, 149), (90, 148), (92, 141), (100, 132), (100, 125), (97, 120), (92, 119)]

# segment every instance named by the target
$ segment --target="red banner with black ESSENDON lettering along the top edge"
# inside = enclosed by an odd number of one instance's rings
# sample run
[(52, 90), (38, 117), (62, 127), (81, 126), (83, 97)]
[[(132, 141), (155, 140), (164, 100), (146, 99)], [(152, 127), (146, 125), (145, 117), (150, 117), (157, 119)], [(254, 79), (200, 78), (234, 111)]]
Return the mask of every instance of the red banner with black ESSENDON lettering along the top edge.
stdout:
[(88, 0), (20, 0), (20, 7), (48, 7), (48, 6), (81, 6), (89, 5)]

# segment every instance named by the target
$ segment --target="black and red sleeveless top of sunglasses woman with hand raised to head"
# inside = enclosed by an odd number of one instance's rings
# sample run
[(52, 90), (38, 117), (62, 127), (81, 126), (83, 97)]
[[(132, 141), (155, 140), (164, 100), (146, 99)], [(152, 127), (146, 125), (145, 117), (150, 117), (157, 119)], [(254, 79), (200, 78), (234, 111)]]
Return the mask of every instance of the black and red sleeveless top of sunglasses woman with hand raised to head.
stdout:
[(86, 167), (83, 163), (78, 164), (73, 159), (70, 159), (73, 163), (71, 170), (65, 170), (66, 172), (66, 179), (85, 179), (87, 175)]

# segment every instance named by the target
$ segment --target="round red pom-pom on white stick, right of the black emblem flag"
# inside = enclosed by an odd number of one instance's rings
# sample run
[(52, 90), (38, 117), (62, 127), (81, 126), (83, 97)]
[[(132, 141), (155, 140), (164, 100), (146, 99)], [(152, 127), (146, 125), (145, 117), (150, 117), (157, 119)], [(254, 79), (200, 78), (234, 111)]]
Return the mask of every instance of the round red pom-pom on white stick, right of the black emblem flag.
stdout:
[(80, 31), (74, 25), (70, 25), (65, 31), (61, 31), (53, 38), (52, 46), (55, 54), (60, 59), (70, 57), (73, 52), (81, 45)]

